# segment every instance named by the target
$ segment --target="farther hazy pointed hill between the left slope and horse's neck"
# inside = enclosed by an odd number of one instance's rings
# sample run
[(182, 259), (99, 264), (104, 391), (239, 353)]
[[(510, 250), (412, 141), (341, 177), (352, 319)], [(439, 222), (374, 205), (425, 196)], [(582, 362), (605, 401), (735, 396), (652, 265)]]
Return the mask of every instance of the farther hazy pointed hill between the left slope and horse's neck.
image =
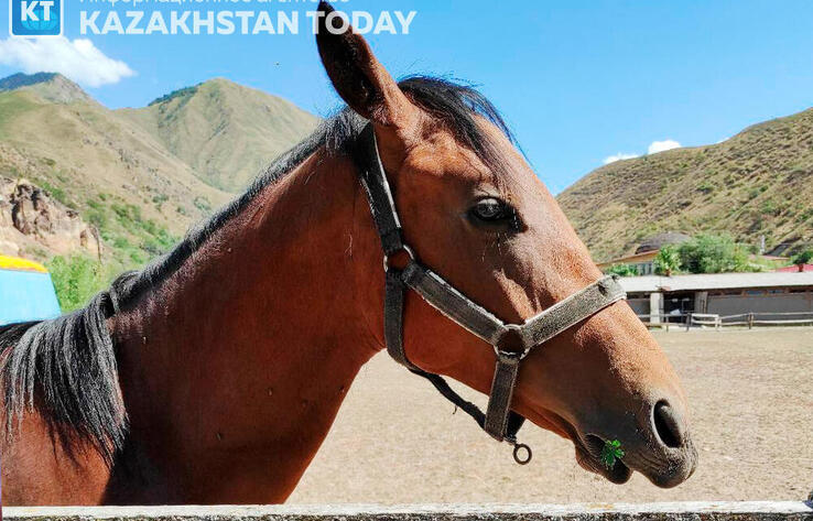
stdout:
[(243, 188), (270, 159), (318, 123), (282, 98), (223, 78), (118, 113), (160, 141), (204, 183), (227, 192)]

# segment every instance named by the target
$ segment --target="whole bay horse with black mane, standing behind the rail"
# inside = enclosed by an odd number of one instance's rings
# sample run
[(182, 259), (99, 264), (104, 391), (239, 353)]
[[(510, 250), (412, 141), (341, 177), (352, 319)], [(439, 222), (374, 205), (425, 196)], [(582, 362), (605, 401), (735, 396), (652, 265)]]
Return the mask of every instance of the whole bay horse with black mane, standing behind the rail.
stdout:
[[(318, 9), (319, 55), (347, 108), (87, 307), (0, 329), (3, 504), (289, 497), (388, 343), (380, 215), (356, 158), (365, 129), (412, 248), (387, 267), (416, 256), (497, 325), (598, 287), (600, 271), (486, 98), (437, 78), (397, 83)], [(404, 359), (489, 393), (495, 349), (477, 328), (426, 295), (401, 296)], [(578, 463), (614, 482), (633, 470), (661, 487), (687, 479), (685, 398), (652, 336), (621, 300), (571, 322), (527, 349), (512, 414), (570, 438)], [(605, 465), (615, 439), (625, 455)]]

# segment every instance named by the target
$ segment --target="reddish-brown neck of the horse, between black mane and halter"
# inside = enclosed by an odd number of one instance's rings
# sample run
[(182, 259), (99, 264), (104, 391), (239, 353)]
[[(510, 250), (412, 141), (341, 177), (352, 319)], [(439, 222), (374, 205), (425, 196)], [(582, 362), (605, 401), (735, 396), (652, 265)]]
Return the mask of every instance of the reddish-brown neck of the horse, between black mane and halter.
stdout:
[(350, 162), (317, 152), (117, 319), (140, 471), (177, 490), (155, 500), (293, 490), (377, 349), (357, 308), (358, 197)]

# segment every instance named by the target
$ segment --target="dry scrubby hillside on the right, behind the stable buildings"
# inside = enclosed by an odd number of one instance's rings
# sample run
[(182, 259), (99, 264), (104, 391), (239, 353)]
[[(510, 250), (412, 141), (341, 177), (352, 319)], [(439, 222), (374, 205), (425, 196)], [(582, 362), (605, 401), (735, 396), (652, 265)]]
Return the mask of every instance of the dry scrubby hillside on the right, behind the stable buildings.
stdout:
[(813, 243), (813, 109), (717, 144), (597, 169), (557, 197), (597, 261), (662, 231), (727, 232), (768, 249)]

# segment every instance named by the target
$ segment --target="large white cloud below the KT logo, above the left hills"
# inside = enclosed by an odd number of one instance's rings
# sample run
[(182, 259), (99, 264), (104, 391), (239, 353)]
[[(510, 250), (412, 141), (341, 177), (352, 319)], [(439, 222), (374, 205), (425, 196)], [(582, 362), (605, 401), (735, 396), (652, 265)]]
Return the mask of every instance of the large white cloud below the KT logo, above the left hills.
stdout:
[(136, 73), (120, 59), (99, 51), (90, 40), (48, 39), (0, 40), (0, 65), (24, 73), (62, 73), (88, 87), (115, 84)]

